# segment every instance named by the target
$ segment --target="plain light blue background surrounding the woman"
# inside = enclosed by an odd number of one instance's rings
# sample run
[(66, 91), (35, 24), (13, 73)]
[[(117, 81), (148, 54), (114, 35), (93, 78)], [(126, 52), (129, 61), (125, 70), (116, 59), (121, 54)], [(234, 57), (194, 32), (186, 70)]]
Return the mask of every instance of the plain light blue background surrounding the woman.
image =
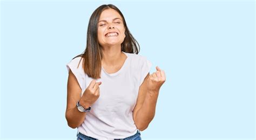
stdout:
[(66, 64), (112, 3), (140, 55), (164, 69), (143, 139), (255, 138), (254, 1), (1, 1), (1, 139), (75, 139)]

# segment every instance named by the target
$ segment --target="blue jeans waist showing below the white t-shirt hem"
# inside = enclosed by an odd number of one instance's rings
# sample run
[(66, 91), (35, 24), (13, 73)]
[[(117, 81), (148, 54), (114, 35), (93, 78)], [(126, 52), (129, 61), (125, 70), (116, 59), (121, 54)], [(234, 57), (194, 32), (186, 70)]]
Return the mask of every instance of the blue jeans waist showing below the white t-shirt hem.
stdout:
[[(140, 137), (140, 132), (137, 130), (137, 133), (134, 134), (133, 136), (126, 137), (126, 138), (119, 138), (120, 140), (141, 140), (142, 138)], [(77, 134), (77, 140), (96, 140), (96, 138), (85, 136), (82, 133)], [(116, 139), (118, 140), (118, 139)]]

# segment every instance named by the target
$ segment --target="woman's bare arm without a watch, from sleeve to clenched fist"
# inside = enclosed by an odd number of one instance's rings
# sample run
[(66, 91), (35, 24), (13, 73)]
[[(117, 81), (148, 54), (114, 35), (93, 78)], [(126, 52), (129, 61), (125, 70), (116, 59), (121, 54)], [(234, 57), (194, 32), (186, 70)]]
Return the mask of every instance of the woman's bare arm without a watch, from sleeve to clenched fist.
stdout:
[(133, 120), (140, 131), (145, 130), (154, 118), (159, 90), (164, 82), (165, 73), (157, 67), (157, 72), (151, 75), (147, 74), (139, 87), (137, 103), (133, 110)]

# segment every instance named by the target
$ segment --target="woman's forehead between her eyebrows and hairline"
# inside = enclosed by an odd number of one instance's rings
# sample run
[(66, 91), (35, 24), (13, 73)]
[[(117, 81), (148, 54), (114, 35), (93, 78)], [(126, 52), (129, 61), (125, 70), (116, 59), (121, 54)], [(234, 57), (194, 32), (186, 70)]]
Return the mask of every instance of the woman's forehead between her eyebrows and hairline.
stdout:
[(102, 12), (99, 20), (112, 20), (114, 18), (122, 19), (121, 15), (114, 9), (106, 9)]

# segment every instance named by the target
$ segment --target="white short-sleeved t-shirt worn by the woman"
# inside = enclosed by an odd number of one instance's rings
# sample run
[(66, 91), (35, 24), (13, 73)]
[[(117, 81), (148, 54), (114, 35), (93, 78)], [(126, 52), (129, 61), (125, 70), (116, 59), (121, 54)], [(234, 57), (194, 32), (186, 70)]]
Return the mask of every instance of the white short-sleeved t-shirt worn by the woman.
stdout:
[[(149, 73), (152, 63), (142, 55), (123, 53), (127, 58), (118, 72), (109, 74), (102, 67), (101, 78), (94, 79), (102, 82), (99, 86), (100, 95), (78, 127), (78, 131), (86, 136), (113, 139), (129, 137), (137, 132), (132, 111), (136, 105), (139, 86)], [(68, 72), (71, 69), (76, 76), (83, 94), (93, 79), (84, 73), (81, 58), (71, 60), (66, 67)]]

